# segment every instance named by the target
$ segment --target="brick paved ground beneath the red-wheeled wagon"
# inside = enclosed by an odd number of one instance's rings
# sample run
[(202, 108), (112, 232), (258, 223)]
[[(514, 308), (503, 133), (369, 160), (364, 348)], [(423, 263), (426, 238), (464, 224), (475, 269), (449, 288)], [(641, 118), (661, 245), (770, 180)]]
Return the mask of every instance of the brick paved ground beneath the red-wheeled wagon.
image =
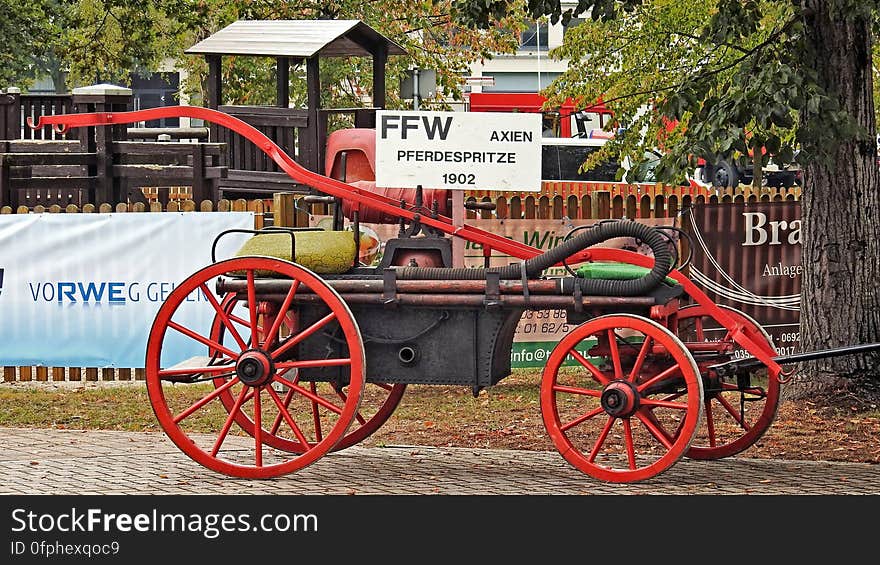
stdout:
[(606, 484), (556, 452), (352, 447), (284, 477), (205, 469), (161, 433), (0, 428), (0, 494), (880, 494), (880, 465), (682, 459)]

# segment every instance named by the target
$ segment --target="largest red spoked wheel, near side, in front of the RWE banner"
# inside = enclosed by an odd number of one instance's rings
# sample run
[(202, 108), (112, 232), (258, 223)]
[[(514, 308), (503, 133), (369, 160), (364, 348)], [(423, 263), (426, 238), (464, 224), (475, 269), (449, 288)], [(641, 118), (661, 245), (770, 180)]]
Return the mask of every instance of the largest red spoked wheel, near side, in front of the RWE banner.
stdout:
[[(224, 311), (221, 302), (230, 299), (216, 294), (218, 277), (244, 281), (238, 298), (244, 316), (233, 320)], [(260, 296), (259, 278), (288, 279), (290, 290)], [(318, 297), (324, 312), (318, 321), (285, 336), (281, 320), (294, 311), (296, 293), (306, 289)], [(216, 316), (229, 343), (213, 339)], [(341, 354), (295, 357), (299, 344), (327, 331), (341, 336)], [(300, 382), (301, 370), (320, 367), (340, 368), (343, 397)], [(364, 390), (364, 348), (348, 306), (313, 272), (268, 257), (237, 257), (194, 273), (168, 295), (150, 331), (146, 380), (160, 425), (190, 458), (235, 477), (275, 477), (313, 463), (343, 438)], [(227, 395), (233, 399), (229, 408), (223, 403)], [(322, 413), (320, 430), (316, 411)], [(238, 426), (248, 421), (250, 431), (244, 435)], [(273, 433), (264, 433), (264, 427), (274, 428)], [(301, 444), (297, 456), (274, 447), (282, 435)]]

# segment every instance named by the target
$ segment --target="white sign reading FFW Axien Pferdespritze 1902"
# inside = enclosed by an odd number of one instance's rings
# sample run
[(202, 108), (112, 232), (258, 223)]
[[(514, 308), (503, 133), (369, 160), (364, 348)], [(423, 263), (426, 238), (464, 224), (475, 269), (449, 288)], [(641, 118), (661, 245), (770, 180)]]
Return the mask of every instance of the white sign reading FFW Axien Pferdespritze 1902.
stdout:
[(541, 115), (380, 110), (376, 186), (541, 190)]

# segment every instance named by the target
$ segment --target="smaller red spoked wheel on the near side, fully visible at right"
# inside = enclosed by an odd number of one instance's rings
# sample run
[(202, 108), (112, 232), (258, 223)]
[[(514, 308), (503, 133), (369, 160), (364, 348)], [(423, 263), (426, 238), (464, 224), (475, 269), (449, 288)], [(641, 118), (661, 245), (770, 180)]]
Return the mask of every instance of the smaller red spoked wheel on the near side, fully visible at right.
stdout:
[[(702, 397), (684, 344), (632, 314), (575, 328), (553, 349), (541, 380), (541, 413), (556, 448), (608, 482), (648, 479), (678, 461), (696, 433)], [(664, 429), (678, 433), (670, 438)]]

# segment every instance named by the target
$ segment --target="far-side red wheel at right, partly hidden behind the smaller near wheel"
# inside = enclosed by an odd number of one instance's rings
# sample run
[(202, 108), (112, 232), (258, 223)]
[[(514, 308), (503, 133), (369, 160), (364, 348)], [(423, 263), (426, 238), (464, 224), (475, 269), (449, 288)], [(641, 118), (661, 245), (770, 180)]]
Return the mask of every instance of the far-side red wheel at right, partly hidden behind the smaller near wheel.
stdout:
[[(735, 308), (720, 304), (718, 307), (738, 323), (754, 330), (755, 335), (763, 340), (759, 345), (776, 355), (773, 340), (758, 322)], [(728, 344), (731, 351), (738, 348), (731, 332), (699, 304), (679, 310), (678, 337), (685, 344), (713, 342)], [(717, 359), (710, 360), (705, 366), (717, 362)], [(758, 441), (773, 423), (779, 408), (779, 380), (762, 369), (749, 375), (750, 382), (740, 390), (735, 380), (716, 379), (713, 382), (704, 364), (699, 365), (704, 378), (705, 418), (686, 455), (691, 459), (721, 459), (736, 455)]]

